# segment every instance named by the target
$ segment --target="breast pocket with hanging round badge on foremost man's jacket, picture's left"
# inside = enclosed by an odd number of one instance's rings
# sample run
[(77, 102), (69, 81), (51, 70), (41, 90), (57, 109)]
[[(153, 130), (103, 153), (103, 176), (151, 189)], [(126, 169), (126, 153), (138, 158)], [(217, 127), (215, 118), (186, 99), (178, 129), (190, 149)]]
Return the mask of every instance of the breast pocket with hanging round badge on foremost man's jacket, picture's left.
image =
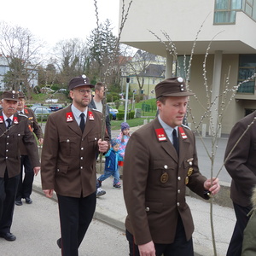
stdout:
[(170, 159), (154, 160), (154, 181), (157, 181), (161, 186), (170, 186), (173, 182), (177, 165)]

